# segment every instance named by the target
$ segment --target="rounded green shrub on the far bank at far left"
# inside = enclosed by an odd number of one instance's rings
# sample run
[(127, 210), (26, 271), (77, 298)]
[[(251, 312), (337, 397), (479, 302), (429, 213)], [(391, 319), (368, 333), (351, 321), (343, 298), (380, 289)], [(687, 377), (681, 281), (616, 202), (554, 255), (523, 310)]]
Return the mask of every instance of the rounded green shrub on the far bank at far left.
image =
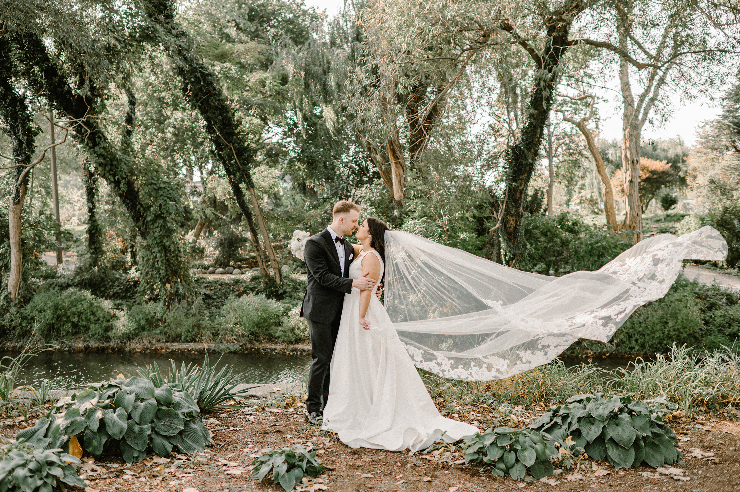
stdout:
[(52, 340), (76, 335), (104, 340), (114, 320), (110, 301), (79, 289), (39, 292), (26, 306), (25, 314), (38, 322), (39, 336)]

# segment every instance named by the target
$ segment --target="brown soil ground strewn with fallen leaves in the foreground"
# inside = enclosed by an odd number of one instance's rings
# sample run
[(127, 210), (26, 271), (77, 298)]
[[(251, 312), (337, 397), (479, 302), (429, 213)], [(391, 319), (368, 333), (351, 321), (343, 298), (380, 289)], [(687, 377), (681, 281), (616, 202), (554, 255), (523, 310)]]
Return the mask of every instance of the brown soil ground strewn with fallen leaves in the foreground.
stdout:
[[(508, 425), (518, 423), (523, 427), (539, 414), (542, 411), (517, 410), (514, 419), (506, 418), (511, 420)], [(474, 412), (453, 414), (453, 417), (481, 429), (491, 425), (490, 420)], [(220, 410), (204, 420), (212, 431), (214, 445), (195, 457), (173, 454), (171, 459), (161, 459), (152, 455), (129, 465), (119, 456), (103, 455), (95, 461), (92, 456), (84, 455), (80, 474), (89, 484), (85, 491), (278, 492), (283, 489), (272, 484), (271, 476), (261, 483), (252, 478), (249, 464), (260, 449), (294, 444), (313, 448), (329, 467), (318, 480), (311, 480), (296, 491), (724, 492), (740, 489), (740, 425), (716, 419), (670, 422), (684, 452), (684, 462), (670, 467), (673, 477), (645, 466), (617, 471), (607, 462), (594, 464), (587, 460), (577, 469), (546, 477), (546, 482), (531, 483), (491, 476), (487, 466), (464, 465), (460, 456), (449, 448), (414, 454), (349, 448), (333, 434), (306, 425), (300, 402), (285, 409), (262, 405)], [(2, 423), (0, 434), (10, 438), (24, 425), (12, 421)], [(33, 420), (29, 422), (33, 423)]]

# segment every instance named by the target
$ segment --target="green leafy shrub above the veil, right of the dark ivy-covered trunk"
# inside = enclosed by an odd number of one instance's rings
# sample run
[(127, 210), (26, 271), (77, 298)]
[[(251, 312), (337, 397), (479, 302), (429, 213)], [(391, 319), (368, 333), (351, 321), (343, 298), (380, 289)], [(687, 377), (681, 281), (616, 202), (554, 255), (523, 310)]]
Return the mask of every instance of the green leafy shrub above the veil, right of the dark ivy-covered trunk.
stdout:
[(598, 270), (632, 243), (568, 212), (525, 215), (517, 268), (545, 275)]

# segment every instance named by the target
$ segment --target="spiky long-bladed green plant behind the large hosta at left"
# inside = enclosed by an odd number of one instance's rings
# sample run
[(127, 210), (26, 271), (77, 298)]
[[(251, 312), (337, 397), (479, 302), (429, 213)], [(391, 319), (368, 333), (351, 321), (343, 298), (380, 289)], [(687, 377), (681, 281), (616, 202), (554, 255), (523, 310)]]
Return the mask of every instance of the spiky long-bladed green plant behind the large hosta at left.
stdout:
[[(203, 359), (203, 367), (193, 366), (192, 363), (181, 367), (170, 360), (168, 374), (162, 375), (159, 365), (153, 363), (146, 368), (138, 368), (138, 374), (152, 382), (155, 388), (161, 388), (164, 385), (177, 385), (184, 391), (187, 391), (196, 402), (201, 412), (209, 412), (214, 408), (241, 408), (242, 405), (237, 403), (237, 398), (248, 397), (248, 392), (257, 386), (249, 386), (238, 391), (234, 389), (244, 382), (243, 374), (234, 374), (234, 366), (226, 365), (221, 371), (216, 372), (216, 368), (211, 367), (208, 354)], [(218, 365), (218, 362), (216, 363)], [(226, 400), (233, 400), (236, 405), (221, 405)]]

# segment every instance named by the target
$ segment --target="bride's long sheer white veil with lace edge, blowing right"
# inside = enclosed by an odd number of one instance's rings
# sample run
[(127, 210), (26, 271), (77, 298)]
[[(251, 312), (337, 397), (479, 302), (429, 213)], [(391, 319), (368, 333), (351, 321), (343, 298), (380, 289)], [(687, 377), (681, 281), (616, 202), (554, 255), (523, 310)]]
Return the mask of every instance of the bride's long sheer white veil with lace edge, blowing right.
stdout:
[(606, 342), (635, 309), (663, 297), (682, 260), (723, 260), (703, 227), (640, 241), (596, 272), (520, 272), (408, 232), (386, 232), (386, 311), (414, 364), (486, 381), (550, 362), (582, 338)]

